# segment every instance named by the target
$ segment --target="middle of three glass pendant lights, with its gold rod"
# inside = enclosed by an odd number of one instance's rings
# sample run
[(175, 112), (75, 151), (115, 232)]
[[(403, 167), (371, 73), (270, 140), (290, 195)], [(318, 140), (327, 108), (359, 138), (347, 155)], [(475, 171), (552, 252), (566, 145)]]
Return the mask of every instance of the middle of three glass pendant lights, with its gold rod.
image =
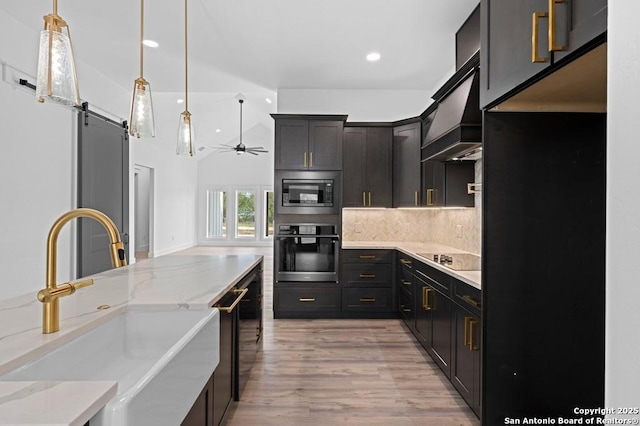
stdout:
[(156, 126), (153, 118), (151, 85), (142, 77), (144, 45), (144, 0), (140, 0), (140, 77), (133, 82), (131, 112), (129, 114), (129, 134), (136, 138), (155, 137)]

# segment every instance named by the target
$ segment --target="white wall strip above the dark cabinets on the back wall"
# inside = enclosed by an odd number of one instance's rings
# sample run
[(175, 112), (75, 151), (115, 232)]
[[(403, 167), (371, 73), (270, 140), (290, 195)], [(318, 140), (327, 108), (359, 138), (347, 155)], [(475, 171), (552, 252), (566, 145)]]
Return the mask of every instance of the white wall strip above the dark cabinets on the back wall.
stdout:
[(278, 90), (280, 114), (348, 114), (347, 121), (397, 121), (420, 115), (431, 90)]

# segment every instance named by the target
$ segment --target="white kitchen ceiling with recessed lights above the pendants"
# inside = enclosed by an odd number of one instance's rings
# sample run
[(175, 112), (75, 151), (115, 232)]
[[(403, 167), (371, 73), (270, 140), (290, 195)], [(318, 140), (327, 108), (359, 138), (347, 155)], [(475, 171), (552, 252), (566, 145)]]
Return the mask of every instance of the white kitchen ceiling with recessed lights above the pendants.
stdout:
[[(433, 89), (454, 63), (454, 34), (478, 0), (190, 0), (189, 86)], [(0, 3), (42, 27), (51, 0)], [(76, 56), (125, 88), (138, 73), (138, 0), (60, 0)], [(184, 88), (184, 2), (146, 0), (145, 77), (155, 92)], [(378, 63), (365, 55), (380, 52)], [(35, 54), (35, 53), (34, 53)]]

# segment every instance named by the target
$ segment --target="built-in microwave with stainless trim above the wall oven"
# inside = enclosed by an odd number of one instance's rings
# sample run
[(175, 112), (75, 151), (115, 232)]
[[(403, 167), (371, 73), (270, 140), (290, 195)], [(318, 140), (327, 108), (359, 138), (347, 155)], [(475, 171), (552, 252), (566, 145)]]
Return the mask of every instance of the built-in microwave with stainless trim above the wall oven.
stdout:
[(277, 214), (339, 214), (340, 172), (276, 171)]

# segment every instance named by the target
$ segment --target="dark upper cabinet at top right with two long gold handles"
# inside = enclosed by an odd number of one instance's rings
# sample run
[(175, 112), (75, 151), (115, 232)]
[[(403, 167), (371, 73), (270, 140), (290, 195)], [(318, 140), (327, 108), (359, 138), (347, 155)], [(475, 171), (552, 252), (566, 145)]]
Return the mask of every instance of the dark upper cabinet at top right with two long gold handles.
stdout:
[(482, 0), (480, 105), (602, 42), (607, 0)]

